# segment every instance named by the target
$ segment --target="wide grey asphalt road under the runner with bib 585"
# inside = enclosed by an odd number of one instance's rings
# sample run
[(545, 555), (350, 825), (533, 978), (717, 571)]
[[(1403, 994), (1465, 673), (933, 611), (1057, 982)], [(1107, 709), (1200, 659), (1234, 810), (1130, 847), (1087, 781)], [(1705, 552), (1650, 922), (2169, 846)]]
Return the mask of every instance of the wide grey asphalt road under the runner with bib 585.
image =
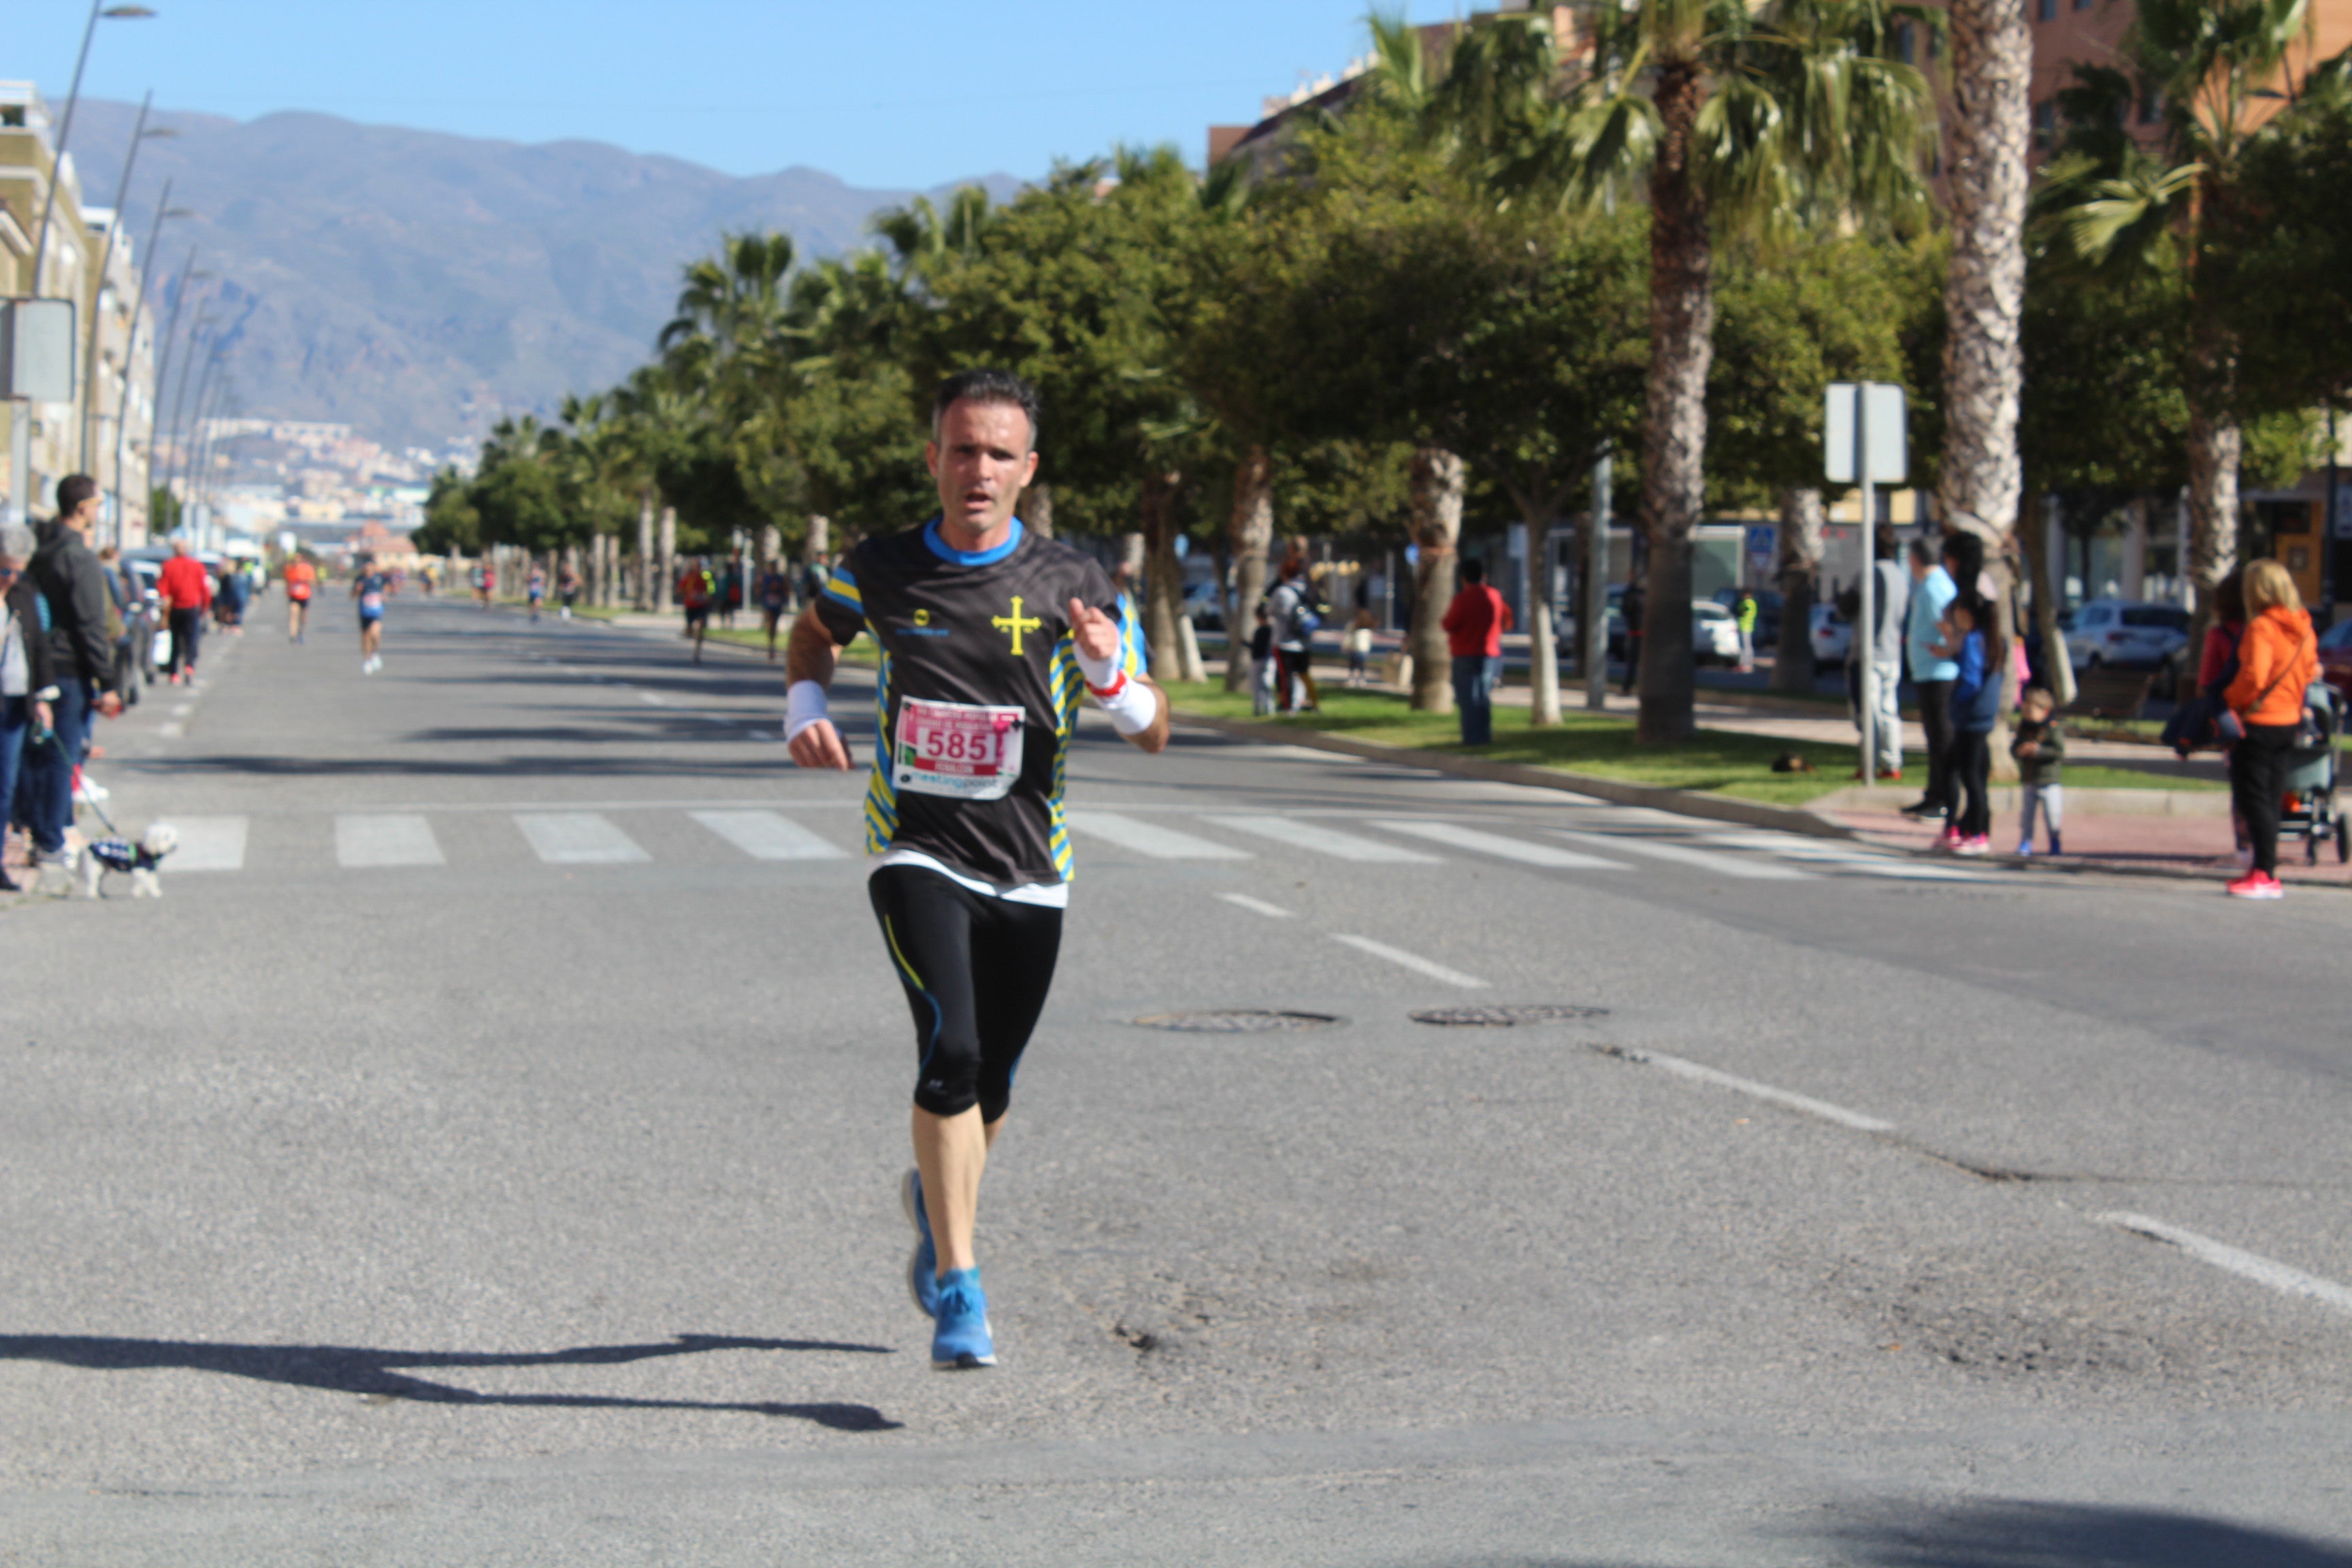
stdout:
[(5, 1563), (2352, 1566), (2352, 898), (1089, 726), (943, 1378), (781, 679), (278, 611), (0, 917)]

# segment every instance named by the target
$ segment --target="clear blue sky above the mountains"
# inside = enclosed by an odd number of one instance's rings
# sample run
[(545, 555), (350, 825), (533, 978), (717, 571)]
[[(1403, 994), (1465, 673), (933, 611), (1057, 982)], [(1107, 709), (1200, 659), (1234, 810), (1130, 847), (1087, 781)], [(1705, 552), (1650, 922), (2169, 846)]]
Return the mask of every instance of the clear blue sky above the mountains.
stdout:
[[(85, 92), (252, 120), (308, 108), (510, 141), (593, 139), (729, 174), (858, 186), (1042, 174), (1174, 141), (1336, 73), (1362, 0), (148, 0), (101, 21)], [(16, 0), (0, 75), (64, 101), (82, 0)], [(1454, 14), (1418, 5), (1416, 21)]]

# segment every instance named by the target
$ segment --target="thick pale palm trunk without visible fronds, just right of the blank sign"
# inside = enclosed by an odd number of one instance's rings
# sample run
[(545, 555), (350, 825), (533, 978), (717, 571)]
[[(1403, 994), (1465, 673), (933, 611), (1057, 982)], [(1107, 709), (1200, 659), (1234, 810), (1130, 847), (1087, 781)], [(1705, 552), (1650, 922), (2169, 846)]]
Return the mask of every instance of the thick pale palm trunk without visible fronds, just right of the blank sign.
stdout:
[(2006, 555), (2018, 527), (2018, 388), (2025, 360), (2025, 155), (2032, 143), (2034, 40), (2018, 0), (1952, 0), (1952, 115), (1945, 165), (1952, 266), (1943, 348), (1945, 529)]

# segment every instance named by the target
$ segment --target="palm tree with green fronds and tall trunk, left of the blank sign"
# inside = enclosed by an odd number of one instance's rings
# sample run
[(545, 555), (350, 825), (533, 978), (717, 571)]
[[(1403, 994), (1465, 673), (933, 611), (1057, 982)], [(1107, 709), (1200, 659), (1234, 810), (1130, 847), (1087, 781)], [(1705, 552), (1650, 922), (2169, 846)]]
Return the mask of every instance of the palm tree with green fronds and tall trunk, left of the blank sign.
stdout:
[(1691, 623), (1675, 607), (1691, 602), (1691, 531), (1705, 503), (1715, 247), (1924, 214), (1931, 96), (1896, 59), (1898, 24), (1933, 19), (1884, 0), (1602, 7), (1585, 75), (1545, 85), (1541, 103), (1529, 103), (1526, 82), (1541, 80), (1531, 45), (1498, 40), (1463, 56), (1484, 80), (1463, 94), (1456, 127), (1498, 190), (1599, 207), (1642, 188), (1649, 200), (1644, 741), (1693, 729)]

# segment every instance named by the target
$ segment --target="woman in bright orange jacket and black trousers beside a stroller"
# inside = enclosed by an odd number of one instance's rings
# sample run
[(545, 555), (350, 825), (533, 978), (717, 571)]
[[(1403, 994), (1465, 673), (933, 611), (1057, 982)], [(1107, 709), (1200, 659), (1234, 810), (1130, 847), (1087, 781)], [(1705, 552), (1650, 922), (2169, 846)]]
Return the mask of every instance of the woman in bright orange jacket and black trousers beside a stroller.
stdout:
[(2246, 738), (2230, 748), (2230, 792), (2246, 816), (2253, 870), (2230, 884), (2232, 898), (2279, 896), (2279, 797), (2303, 724), (2303, 691), (2317, 677), (2319, 639), (2296, 578), (2274, 559), (2249, 562), (2246, 637), (2223, 703), (2246, 724)]

